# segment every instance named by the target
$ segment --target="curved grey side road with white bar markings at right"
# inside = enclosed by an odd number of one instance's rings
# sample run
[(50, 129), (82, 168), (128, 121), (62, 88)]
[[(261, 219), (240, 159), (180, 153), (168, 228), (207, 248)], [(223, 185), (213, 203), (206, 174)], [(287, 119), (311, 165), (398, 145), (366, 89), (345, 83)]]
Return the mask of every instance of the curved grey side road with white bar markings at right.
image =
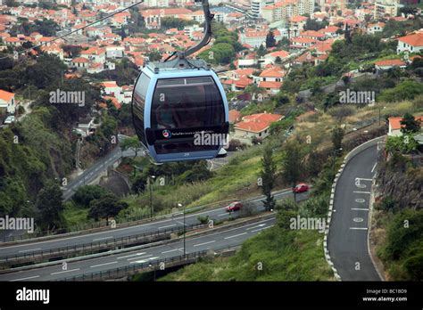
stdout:
[(336, 184), (328, 250), (343, 281), (380, 281), (368, 250), (370, 187), (376, 162), (377, 146), (361, 151), (344, 167)]

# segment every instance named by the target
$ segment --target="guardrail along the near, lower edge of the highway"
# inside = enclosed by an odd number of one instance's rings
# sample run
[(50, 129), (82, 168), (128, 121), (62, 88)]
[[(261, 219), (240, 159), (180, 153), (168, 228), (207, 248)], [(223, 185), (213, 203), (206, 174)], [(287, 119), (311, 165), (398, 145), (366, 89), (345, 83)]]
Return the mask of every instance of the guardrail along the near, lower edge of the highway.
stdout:
[(143, 270), (156, 270), (161, 264), (164, 265), (186, 265), (194, 263), (201, 257), (206, 257), (210, 253), (209, 250), (203, 250), (193, 253), (187, 253), (186, 255), (180, 255), (178, 257), (168, 257), (162, 259), (156, 259), (153, 261), (139, 263), (119, 268), (108, 269), (105, 271), (94, 272), (94, 273), (84, 273), (75, 275), (72, 277), (67, 277), (58, 281), (95, 281), (95, 280), (106, 280), (106, 279), (116, 279), (130, 274), (139, 273)]

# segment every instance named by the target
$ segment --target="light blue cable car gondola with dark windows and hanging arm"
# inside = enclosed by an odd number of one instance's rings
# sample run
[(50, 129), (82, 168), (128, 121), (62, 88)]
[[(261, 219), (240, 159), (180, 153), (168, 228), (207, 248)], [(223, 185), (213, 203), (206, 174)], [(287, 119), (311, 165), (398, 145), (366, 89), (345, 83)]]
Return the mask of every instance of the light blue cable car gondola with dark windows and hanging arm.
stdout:
[(207, 0), (203, 0), (203, 12), (203, 40), (174, 53), (173, 60), (147, 63), (134, 87), (134, 126), (157, 163), (215, 158), (222, 143), (198, 143), (195, 137), (228, 135), (228, 101), (219, 77), (205, 61), (187, 58), (211, 39), (213, 15)]

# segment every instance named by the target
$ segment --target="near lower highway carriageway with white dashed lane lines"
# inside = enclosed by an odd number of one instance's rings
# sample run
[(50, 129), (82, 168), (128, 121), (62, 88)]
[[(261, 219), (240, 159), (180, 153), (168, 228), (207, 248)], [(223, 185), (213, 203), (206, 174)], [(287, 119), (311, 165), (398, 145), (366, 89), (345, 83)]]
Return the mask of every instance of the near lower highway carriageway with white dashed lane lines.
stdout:
[[(206, 249), (219, 250), (240, 245), (243, 241), (253, 237), (275, 224), (275, 218), (262, 220), (242, 227), (228, 228), (221, 232), (211, 232), (199, 237), (187, 238), (186, 253), (193, 253)], [(161, 262), (164, 258), (178, 257), (184, 254), (183, 241), (164, 244), (147, 249), (137, 249), (130, 252), (95, 257), (70, 262), (66, 270), (62, 264), (29, 269), (14, 273), (0, 274), (0, 281), (55, 281), (84, 273), (107, 271), (113, 268), (132, 264)]]

